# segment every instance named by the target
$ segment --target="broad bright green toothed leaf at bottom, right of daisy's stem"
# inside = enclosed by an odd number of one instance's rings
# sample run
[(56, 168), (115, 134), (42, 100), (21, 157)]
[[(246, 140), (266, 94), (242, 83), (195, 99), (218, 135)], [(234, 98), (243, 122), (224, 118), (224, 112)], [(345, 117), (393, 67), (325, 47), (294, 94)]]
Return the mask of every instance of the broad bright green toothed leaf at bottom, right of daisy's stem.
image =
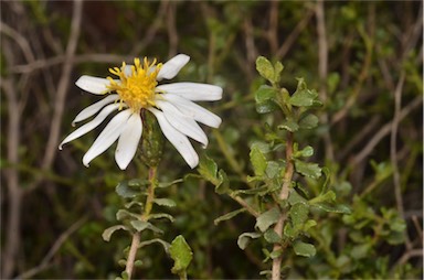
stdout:
[(169, 254), (174, 261), (171, 269), (172, 273), (179, 274), (180, 277), (186, 276), (187, 268), (193, 259), (193, 252), (182, 235), (173, 239), (169, 247)]

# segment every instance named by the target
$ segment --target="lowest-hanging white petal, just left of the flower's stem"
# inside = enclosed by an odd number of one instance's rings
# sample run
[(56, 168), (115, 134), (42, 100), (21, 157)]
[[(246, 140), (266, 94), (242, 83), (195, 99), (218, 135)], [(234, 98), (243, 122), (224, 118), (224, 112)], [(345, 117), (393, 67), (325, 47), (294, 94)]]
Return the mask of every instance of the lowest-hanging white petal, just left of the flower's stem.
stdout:
[(120, 133), (118, 146), (115, 151), (115, 160), (121, 170), (125, 170), (137, 152), (138, 142), (142, 132), (142, 123), (139, 114), (129, 117), (123, 132)]

